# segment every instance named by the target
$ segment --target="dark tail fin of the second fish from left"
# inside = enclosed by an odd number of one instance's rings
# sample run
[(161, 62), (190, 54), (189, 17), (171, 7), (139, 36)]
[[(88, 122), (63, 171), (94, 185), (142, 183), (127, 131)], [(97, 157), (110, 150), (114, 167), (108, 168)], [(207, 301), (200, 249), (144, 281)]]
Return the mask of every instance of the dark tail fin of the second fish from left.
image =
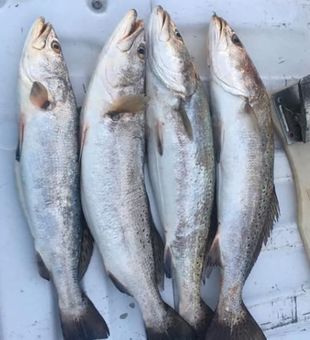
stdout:
[(154, 329), (146, 325), (148, 340), (196, 340), (194, 329), (181, 318), (181, 316), (170, 306), (165, 304), (166, 317), (163, 329)]

